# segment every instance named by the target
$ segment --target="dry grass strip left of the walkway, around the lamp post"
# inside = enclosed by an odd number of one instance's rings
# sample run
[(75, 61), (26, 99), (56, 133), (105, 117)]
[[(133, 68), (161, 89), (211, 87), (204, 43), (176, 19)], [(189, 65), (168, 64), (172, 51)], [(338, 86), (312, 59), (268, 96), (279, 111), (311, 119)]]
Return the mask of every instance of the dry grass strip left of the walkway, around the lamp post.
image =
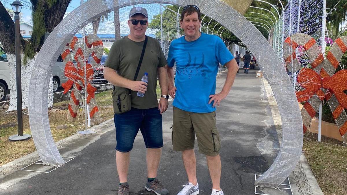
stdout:
[[(98, 93), (96, 102), (98, 103), (102, 121), (113, 117), (112, 92), (106, 91)], [(51, 133), (55, 142), (69, 137), (84, 129), (84, 116), (77, 116), (75, 122), (67, 121), (67, 110), (69, 101), (53, 104), (53, 108), (48, 110)], [(12, 142), (8, 137), (17, 134), (17, 112), (6, 112), (7, 109), (0, 109), (0, 166), (11, 162), (19, 157), (36, 151), (33, 139), (27, 141)], [(79, 110), (82, 112), (82, 109)], [(27, 113), (27, 110), (23, 110)], [(67, 129), (57, 130), (59, 125), (67, 124)], [(29, 117), (23, 114), (23, 132), (31, 134), (29, 127)]]

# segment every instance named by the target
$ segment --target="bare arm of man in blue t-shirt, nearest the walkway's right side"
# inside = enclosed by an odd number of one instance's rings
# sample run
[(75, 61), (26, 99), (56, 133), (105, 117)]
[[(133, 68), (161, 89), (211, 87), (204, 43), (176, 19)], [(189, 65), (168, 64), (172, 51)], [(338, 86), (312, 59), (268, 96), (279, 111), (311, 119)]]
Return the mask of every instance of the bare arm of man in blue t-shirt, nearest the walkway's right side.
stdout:
[(228, 93), (231, 90), (232, 84), (234, 84), (234, 80), (236, 77), (236, 72), (238, 70), (238, 66), (236, 63), (235, 59), (230, 60), (225, 64), (225, 66), (228, 68), (228, 73), (227, 73), (227, 79), (225, 80), (223, 89), (220, 93), (210, 95), (210, 101), (209, 104), (214, 100), (212, 107), (215, 107), (217, 104), (218, 106), (220, 105), (220, 102), (225, 99), (225, 97), (228, 95)]

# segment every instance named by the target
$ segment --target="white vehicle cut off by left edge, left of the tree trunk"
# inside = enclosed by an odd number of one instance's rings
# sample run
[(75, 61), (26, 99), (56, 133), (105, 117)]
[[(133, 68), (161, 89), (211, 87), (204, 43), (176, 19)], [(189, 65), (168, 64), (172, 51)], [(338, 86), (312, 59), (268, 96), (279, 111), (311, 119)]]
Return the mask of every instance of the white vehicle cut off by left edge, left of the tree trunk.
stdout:
[[(1, 49), (1, 48), (0, 48)], [(0, 102), (10, 93), (10, 65), (5, 52), (0, 53)]]

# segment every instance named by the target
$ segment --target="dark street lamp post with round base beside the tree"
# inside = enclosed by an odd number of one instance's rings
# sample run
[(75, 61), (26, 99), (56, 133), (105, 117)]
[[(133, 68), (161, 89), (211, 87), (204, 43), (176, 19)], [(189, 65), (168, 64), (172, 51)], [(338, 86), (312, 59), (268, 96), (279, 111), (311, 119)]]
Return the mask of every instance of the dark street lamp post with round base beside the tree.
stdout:
[(20, 32), (19, 32), (19, 13), (22, 10), (22, 3), (16, 0), (12, 4), (12, 10), (15, 13), (15, 50), (16, 50), (16, 83), (17, 83), (17, 121), (18, 135), (9, 137), (12, 141), (25, 140), (31, 135), (23, 135), (23, 114), (22, 114), (22, 73), (20, 70)]

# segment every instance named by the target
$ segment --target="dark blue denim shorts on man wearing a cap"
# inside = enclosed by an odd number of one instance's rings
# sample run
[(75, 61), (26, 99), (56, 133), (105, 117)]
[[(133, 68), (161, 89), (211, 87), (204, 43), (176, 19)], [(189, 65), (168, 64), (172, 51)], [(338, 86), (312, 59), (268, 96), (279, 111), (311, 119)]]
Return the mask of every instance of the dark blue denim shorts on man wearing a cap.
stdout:
[(146, 148), (163, 147), (162, 116), (158, 107), (150, 109), (131, 108), (130, 111), (115, 114), (116, 150), (129, 152), (133, 149), (138, 129), (141, 130)]

